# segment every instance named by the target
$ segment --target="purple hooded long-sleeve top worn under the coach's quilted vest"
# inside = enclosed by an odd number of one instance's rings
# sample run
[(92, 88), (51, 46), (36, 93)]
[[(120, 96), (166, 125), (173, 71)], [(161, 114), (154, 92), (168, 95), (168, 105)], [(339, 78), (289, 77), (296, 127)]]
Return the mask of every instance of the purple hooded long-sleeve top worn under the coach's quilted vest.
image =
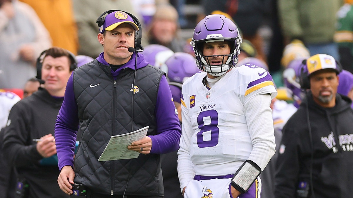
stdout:
[[(97, 60), (102, 64), (109, 65), (103, 57), (104, 56), (102, 53)], [(116, 79), (123, 68), (127, 67), (134, 69), (135, 57), (136, 55), (133, 54), (131, 60), (115, 72), (111, 70), (113, 78)], [(145, 61), (143, 55), (138, 54), (137, 69), (145, 67), (147, 64), (148, 62)], [(158, 88), (155, 108), (157, 135), (149, 136), (152, 140), (152, 148), (150, 153), (163, 154), (175, 151), (179, 148), (181, 128), (178, 116), (175, 114), (175, 106), (171, 98), (172, 93), (170, 92), (167, 79), (163, 75)], [(55, 124), (55, 142), (60, 170), (64, 166), (73, 166), (73, 155), (78, 125), (78, 106), (73, 91), (73, 78), (71, 74), (66, 85), (64, 102), (62, 103)]]

